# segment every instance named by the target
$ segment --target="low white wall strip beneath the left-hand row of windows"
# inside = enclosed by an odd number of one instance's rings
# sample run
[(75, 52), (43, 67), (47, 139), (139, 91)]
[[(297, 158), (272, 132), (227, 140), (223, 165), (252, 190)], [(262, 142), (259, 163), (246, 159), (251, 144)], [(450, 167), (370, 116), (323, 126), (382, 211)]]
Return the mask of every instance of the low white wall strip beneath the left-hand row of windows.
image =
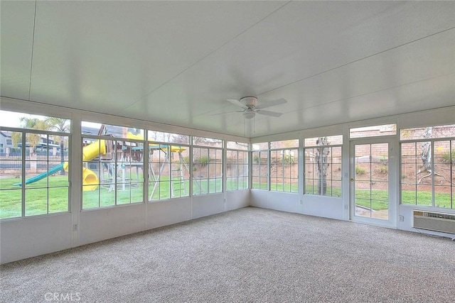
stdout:
[[(208, 194), (161, 202), (87, 209), (73, 223), (70, 213), (0, 221), (0, 263), (176, 224), (249, 205), (249, 191)], [(73, 225), (77, 224), (77, 231)], [(72, 243), (73, 239), (73, 243)]]

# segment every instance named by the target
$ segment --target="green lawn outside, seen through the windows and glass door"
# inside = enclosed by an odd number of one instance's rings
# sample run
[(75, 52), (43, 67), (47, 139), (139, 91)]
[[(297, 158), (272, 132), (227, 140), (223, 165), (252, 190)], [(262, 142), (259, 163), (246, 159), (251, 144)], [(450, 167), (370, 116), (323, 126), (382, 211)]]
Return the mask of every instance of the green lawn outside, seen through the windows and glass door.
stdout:
[[(133, 179), (134, 180), (134, 179)], [(11, 218), (21, 216), (21, 187), (14, 186), (17, 183), (17, 178), (2, 178), (0, 179), (0, 218)], [(45, 188), (47, 183), (52, 186), (49, 189)], [(239, 185), (240, 182), (240, 185)], [(228, 180), (226, 184), (228, 189), (236, 189), (242, 187), (244, 181)], [(252, 184), (253, 188), (258, 188), (259, 184)], [(99, 206), (114, 205), (115, 190), (109, 184), (98, 187), (93, 191), (82, 192), (82, 205), (84, 209), (96, 208)], [(143, 191), (142, 182), (132, 184), (117, 185), (117, 204), (129, 204), (142, 202)], [(149, 194), (154, 187), (154, 182), (149, 183)], [(170, 197), (170, 182), (165, 177), (161, 177), (161, 182), (157, 186), (154, 196), (151, 200), (169, 199)], [(193, 180), (194, 194), (206, 194), (220, 192), (222, 189), (222, 180)], [(267, 189), (262, 186), (261, 189)], [(283, 191), (283, 184), (275, 184), (272, 190)], [(314, 190), (307, 186), (306, 192), (311, 193)], [(297, 192), (298, 184), (285, 184), (285, 192)], [(341, 197), (341, 189), (327, 188), (327, 193), (333, 197)], [(189, 194), (189, 180), (174, 183), (173, 197), (186, 197)], [(48, 198), (49, 197), (49, 198)], [(371, 199), (370, 199), (371, 198)], [(55, 212), (68, 211), (68, 176), (50, 176), (33, 184), (26, 185), (26, 216), (38, 214), (51, 214)], [(415, 192), (402, 191), (402, 203), (412, 205), (431, 205), (431, 192)], [(49, 201), (49, 203), (47, 203)], [(370, 204), (371, 202), (371, 204)], [(358, 189), (356, 190), (356, 204), (372, 208), (374, 210), (387, 209), (387, 191)], [(451, 206), (450, 194), (437, 193), (435, 194), (435, 204), (439, 207), (453, 208)]]

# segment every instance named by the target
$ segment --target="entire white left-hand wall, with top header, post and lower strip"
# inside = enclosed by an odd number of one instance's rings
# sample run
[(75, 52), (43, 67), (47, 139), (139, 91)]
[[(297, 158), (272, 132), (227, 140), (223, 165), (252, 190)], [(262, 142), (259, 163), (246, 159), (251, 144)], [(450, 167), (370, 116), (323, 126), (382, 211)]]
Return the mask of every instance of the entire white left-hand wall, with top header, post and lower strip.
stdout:
[(77, 148), (81, 142), (81, 121), (120, 124), (122, 126), (207, 136), (237, 142), (249, 142), (249, 140), (134, 119), (125, 118), (119, 121), (119, 117), (60, 109), (58, 106), (45, 106), (3, 97), (1, 98), (1, 109), (72, 119), (71, 146), (73, 148), (71, 148), (69, 176), (72, 189), (70, 196), (70, 209), (72, 211), (64, 214), (1, 220), (0, 263), (9, 263), (14, 260), (124, 236), (129, 233), (210, 216), (250, 204), (250, 191), (241, 190), (81, 211), (82, 194), (78, 189), (82, 187), (80, 170), (82, 163), (78, 159), (82, 158), (82, 150)]

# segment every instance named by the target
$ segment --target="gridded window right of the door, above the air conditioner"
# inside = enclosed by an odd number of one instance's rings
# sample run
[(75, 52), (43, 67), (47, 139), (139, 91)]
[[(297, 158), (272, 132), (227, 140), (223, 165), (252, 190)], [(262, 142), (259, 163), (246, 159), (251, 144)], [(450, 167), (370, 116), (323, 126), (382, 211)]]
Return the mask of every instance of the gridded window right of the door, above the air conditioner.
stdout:
[(401, 203), (455, 209), (455, 125), (400, 130)]

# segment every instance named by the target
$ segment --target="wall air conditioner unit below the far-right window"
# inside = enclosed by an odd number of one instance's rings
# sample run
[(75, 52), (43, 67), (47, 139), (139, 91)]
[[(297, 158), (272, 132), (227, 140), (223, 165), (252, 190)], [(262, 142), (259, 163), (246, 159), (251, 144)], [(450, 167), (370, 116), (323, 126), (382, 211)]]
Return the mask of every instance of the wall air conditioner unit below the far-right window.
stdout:
[(414, 211), (414, 228), (455, 234), (455, 214)]

